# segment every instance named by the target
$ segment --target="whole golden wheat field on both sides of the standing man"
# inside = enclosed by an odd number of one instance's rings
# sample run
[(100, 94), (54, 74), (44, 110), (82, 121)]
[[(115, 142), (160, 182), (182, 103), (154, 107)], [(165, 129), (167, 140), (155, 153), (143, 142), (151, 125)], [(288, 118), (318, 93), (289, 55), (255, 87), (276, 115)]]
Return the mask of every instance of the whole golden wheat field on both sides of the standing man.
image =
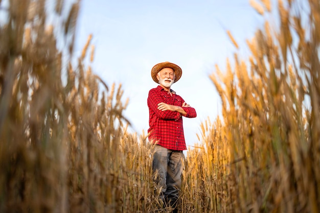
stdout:
[[(44, 0), (8, 2), (0, 212), (170, 212), (156, 199), (147, 135), (127, 131), (121, 85), (91, 68), (92, 35), (74, 54), (79, 2), (67, 16), (62, 0), (51, 10)], [(320, 1), (277, 3), (250, 1), (266, 17), (247, 40), (250, 56), (235, 53), (209, 77), (222, 116), (201, 124), (184, 159), (181, 213), (320, 211)], [(267, 19), (274, 11), (279, 26)], [(59, 25), (48, 25), (52, 16)]]

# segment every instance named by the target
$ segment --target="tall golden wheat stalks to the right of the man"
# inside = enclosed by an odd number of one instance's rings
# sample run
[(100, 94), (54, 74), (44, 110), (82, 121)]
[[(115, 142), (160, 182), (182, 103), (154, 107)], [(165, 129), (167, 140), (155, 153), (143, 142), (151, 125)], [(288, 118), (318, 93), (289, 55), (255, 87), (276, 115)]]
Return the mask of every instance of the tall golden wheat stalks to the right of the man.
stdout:
[[(268, 2), (261, 2), (270, 8)], [(280, 29), (266, 21), (265, 28), (247, 41), (252, 52), (248, 62), (235, 54), (233, 70), (227, 60), (225, 74), (217, 67), (210, 76), (222, 100), (224, 125), (210, 127), (219, 128), (219, 134), (205, 133), (200, 141), (212, 144), (212, 149), (192, 153), (188, 165), (202, 162), (196, 165), (198, 171), (210, 171), (218, 164), (217, 177), (223, 181), (220, 185), (210, 182), (215, 180), (208, 180), (215, 174), (212, 171), (190, 177), (190, 184), (194, 179), (203, 181), (194, 194), (204, 196), (195, 201), (204, 209), (196, 206), (195, 212), (320, 210), (320, 123), (316, 119), (320, 112), (320, 7), (318, 1), (308, 4), (311, 12), (305, 14), (307, 4), (279, 1)], [(255, 8), (263, 14), (260, 6)], [(302, 14), (307, 21), (302, 21)], [(224, 156), (218, 159), (228, 163), (210, 162), (208, 154), (212, 159)], [(209, 192), (216, 184), (219, 187), (213, 192), (224, 196), (211, 201), (215, 196)]]

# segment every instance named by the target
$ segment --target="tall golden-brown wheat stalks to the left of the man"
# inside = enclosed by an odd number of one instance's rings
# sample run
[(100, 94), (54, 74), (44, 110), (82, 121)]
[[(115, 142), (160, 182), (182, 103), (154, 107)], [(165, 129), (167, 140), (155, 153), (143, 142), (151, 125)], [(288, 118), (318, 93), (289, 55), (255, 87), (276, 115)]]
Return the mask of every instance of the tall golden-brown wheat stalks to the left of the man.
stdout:
[[(0, 31), (0, 211), (156, 208), (150, 144), (127, 133), (121, 85), (108, 88), (84, 64), (94, 58), (91, 35), (71, 62), (79, 3), (56, 28), (45, 25), (45, 1), (15, 3), (1, 9), (8, 21)], [(53, 15), (63, 19), (56, 3)]]

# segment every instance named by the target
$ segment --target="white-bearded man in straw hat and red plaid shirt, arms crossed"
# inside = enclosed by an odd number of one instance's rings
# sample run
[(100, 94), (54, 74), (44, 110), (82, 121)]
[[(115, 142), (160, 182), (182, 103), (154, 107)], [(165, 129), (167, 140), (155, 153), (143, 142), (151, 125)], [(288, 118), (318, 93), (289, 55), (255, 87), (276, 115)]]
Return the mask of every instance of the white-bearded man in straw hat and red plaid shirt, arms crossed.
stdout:
[(160, 198), (177, 212), (181, 189), (183, 150), (187, 149), (182, 117), (196, 117), (196, 111), (171, 85), (182, 75), (181, 68), (170, 62), (158, 63), (151, 69), (151, 77), (159, 85), (149, 91), (149, 140), (156, 143), (152, 170), (162, 188)]

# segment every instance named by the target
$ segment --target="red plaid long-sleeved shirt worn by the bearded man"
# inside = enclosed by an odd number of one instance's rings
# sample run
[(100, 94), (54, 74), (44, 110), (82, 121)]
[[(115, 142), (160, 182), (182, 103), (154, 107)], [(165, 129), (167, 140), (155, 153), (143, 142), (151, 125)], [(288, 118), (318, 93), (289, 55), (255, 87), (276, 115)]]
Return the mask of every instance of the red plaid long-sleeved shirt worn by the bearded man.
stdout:
[[(148, 107), (149, 107), (149, 140), (153, 143), (171, 149), (186, 150), (186, 141), (184, 135), (184, 127), (182, 124), (182, 116), (179, 112), (158, 110), (158, 103), (182, 107), (185, 101), (171, 90), (172, 96), (161, 86), (157, 86), (149, 91)], [(182, 107), (187, 114), (186, 117), (196, 117), (196, 110), (192, 107)]]

